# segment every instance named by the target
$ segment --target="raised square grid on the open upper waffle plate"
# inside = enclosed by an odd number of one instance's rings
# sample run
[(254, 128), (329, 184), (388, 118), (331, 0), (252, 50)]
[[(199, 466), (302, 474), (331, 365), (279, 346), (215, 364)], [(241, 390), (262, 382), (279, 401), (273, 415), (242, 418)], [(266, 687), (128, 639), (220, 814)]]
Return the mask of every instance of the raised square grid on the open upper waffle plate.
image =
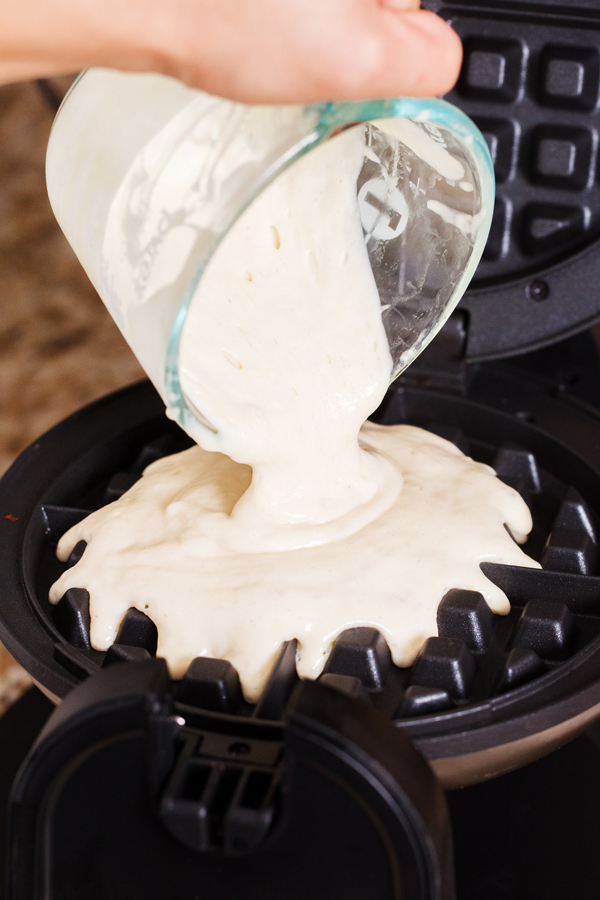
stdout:
[[(464, 45), (447, 98), (482, 131), (497, 182), (475, 287), (519, 276), (600, 231), (597, 11), (489, 3), (426, 4)], [(502, 8), (501, 8), (502, 6)]]

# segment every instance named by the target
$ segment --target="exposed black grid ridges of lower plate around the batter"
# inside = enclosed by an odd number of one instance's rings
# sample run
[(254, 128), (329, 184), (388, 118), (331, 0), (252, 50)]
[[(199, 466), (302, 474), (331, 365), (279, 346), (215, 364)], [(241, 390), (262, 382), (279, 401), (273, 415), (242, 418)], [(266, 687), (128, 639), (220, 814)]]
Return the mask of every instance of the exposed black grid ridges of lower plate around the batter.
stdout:
[[(425, 642), (410, 668), (394, 666), (385, 640), (374, 628), (352, 628), (338, 637), (321, 675), (323, 683), (369, 699), (397, 720), (493, 700), (557, 669), (600, 632), (599, 531), (595, 514), (581, 496), (540, 469), (526, 449), (508, 443), (493, 448), (470, 441), (457, 428), (435, 422), (429, 427), (474, 458), (492, 462), (499, 477), (521, 493), (534, 519), (526, 549), (541, 561), (542, 569), (484, 564), (488, 577), (511, 600), (511, 612), (494, 616), (480, 594), (449, 591), (440, 598), (438, 635)], [(82, 503), (82, 508), (45, 506), (47, 558), (66, 529), (90, 508), (117, 499), (150, 462), (183, 449), (186, 440), (163, 435), (145, 444), (128, 471), (115, 473), (101, 493), (96, 491), (95, 502)], [(78, 544), (67, 565), (84, 551), (85, 544)], [(50, 568), (51, 574), (46, 566), (46, 578), (56, 577), (61, 564), (55, 560)], [(156, 653), (156, 626), (133, 608), (106, 654), (91, 649), (89, 597), (84, 589), (68, 591), (51, 615), (69, 645), (95, 664), (108, 666)], [(233, 666), (208, 658), (191, 663), (175, 686), (176, 700), (183, 706), (279, 719), (297, 683), (295, 656), (295, 642), (285, 644), (255, 707), (244, 702)], [(55, 659), (77, 674), (74, 667), (80, 663), (68, 647), (57, 644)]]

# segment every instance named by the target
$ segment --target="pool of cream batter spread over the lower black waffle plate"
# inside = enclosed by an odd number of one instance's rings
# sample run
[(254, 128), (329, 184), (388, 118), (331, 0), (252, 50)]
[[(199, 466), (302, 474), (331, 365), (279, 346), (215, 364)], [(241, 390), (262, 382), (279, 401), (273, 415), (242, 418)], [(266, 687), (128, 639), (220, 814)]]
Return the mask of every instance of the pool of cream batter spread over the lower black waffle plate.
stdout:
[(520, 496), (493, 469), (453, 444), (409, 425), (363, 427), (365, 450), (393, 460), (404, 476), (398, 501), (345, 540), (266, 553), (236, 553), (215, 538), (248, 488), (251, 470), (199, 447), (153, 463), (119, 501), (61, 540), (81, 561), (52, 588), (89, 586), (94, 647), (113, 643), (130, 606), (158, 626), (158, 655), (181, 677), (195, 656), (230, 660), (244, 693), (260, 695), (283, 641), (297, 638), (298, 672), (316, 678), (345, 628), (385, 636), (397, 665), (410, 665), (437, 633), (440, 599), (453, 587), (481, 591), (496, 613), (503, 592), (483, 561), (537, 566), (510, 537), (531, 527)]

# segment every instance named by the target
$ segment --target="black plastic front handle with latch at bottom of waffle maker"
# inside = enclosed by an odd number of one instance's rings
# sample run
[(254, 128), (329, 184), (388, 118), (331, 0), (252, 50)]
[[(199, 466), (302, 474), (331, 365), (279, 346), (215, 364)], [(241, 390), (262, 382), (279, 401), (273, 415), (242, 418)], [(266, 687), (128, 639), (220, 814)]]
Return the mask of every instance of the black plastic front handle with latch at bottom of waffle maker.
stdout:
[(369, 704), (307, 682), (284, 723), (185, 714), (163, 660), (68, 695), (13, 788), (9, 896), (451, 900), (442, 790)]

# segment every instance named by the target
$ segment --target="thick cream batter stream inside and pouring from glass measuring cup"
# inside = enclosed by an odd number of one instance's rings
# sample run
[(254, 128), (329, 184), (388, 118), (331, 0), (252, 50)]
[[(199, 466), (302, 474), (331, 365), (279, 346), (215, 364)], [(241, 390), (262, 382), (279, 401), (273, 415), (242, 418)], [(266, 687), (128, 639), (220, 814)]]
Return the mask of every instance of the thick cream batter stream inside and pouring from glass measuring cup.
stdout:
[(356, 206), (365, 151), (353, 129), (278, 179), (190, 309), (181, 382), (217, 429), (200, 443), (253, 470), (222, 522), (232, 550), (339, 540), (400, 490), (397, 469), (357, 442), (392, 370)]

